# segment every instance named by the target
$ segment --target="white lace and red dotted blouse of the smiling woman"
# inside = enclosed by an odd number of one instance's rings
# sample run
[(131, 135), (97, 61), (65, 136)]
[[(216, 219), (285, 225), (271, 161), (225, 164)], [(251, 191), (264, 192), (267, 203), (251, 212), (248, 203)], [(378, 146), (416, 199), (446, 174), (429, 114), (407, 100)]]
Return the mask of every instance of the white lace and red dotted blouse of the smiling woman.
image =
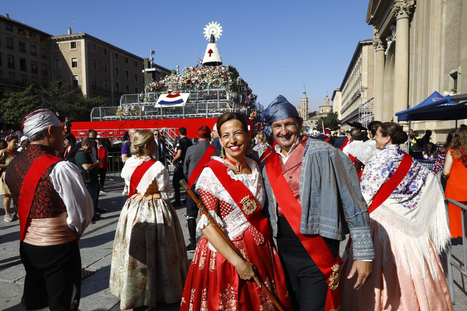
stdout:
[[(219, 157), (212, 157), (212, 161), (219, 161), (227, 166), (224, 160)], [(251, 174), (236, 175), (229, 166), (227, 166), (227, 174), (230, 178), (240, 180), (247, 186), (262, 208), (264, 206), (264, 187), (259, 172), (259, 166), (252, 159), (245, 158), (245, 161), (251, 168)], [(224, 231), (232, 241), (240, 240), (243, 237), (243, 232), (249, 228), (257, 244), (262, 244), (264, 242), (262, 234), (253, 226), (250, 226), (250, 223), (247, 221), (240, 207), (235, 203), (226, 189), (222, 187), (220, 181), (210, 167), (205, 167), (203, 172), (199, 175), (198, 182), (196, 183), (196, 191), (209, 210), (209, 214), (224, 228)], [(203, 229), (208, 222), (209, 220), (207, 217), (202, 214), (197, 226), (197, 232), (201, 236), (203, 236), (201, 229)], [(209, 244), (209, 248), (212, 251), (216, 251), (211, 244)]]

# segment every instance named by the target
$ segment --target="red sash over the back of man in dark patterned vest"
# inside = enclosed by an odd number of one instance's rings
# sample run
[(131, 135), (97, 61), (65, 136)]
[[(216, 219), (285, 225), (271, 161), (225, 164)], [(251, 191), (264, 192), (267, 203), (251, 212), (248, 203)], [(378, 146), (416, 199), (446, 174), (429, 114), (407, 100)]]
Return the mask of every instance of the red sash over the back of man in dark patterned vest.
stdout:
[[(28, 228), (29, 212), (31, 210), (31, 204), (34, 200), (35, 189), (39, 180), (41, 180), (43, 173), (52, 165), (61, 161), (61, 159), (51, 154), (44, 154), (39, 158), (35, 159), (31, 167), (29, 167), (26, 177), (23, 180), (20, 189), (20, 197), (18, 199), (18, 217), (20, 219), (20, 242), (22, 242), (26, 236), (26, 228)], [(34, 187), (33, 187), (34, 185)]]

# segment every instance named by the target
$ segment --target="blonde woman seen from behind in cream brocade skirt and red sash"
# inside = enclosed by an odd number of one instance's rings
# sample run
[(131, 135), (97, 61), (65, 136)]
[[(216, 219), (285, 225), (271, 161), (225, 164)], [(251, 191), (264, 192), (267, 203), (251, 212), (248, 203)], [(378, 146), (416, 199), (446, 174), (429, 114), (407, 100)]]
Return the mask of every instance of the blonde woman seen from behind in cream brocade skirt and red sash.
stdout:
[(156, 142), (150, 131), (138, 131), (121, 177), (129, 187), (113, 242), (110, 291), (120, 309), (146, 310), (159, 302), (182, 298), (188, 271), (185, 242), (169, 172), (150, 156)]

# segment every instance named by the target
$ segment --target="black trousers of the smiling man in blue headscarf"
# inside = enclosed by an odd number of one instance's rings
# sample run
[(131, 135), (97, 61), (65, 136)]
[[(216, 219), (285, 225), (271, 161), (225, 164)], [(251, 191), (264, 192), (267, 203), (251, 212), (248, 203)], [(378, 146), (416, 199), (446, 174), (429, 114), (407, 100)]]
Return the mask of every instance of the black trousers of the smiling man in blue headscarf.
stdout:
[[(335, 247), (326, 240), (333, 242), (335, 240), (325, 239), (325, 242), (334, 258), (337, 258), (339, 241), (336, 241), (337, 247)], [(295, 258), (290, 254), (281, 254), (281, 250), (278, 250), (293, 310), (323, 311), (328, 286), (323, 272), (311, 258)]]

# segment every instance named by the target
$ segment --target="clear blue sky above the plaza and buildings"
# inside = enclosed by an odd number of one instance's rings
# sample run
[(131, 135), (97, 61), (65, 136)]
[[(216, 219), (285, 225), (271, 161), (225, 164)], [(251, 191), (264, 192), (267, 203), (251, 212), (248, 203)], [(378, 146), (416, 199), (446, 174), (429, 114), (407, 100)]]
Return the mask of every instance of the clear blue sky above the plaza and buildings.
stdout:
[(299, 104), (303, 84), (310, 107), (331, 97), (358, 41), (372, 37), (365, 23), (368, 0), (333, 1), (103, 1), (0, 0), (0, 14), (52, 35), (85, 32), (175, 69), (196, 65), (209, 43), (203, 28), (221, 24), (224, 64), (236, 67), (258, 100), (277, 95)]

